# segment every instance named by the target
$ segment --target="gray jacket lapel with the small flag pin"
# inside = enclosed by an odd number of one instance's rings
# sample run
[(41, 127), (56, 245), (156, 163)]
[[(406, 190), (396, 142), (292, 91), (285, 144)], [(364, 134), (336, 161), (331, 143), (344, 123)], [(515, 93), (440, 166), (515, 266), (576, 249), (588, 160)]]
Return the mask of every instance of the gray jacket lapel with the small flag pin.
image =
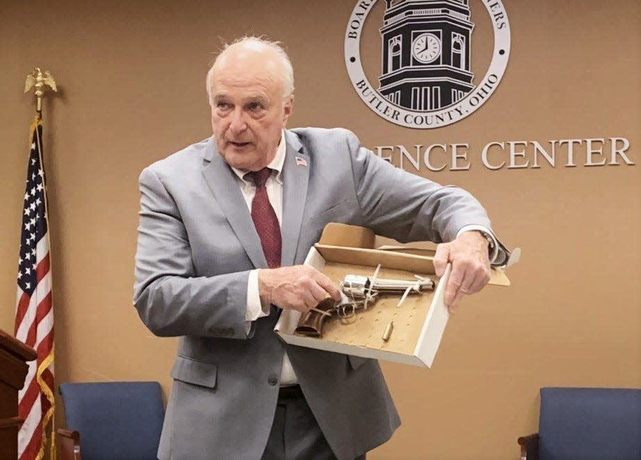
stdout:
[(298, 137), (291, 131), (285, 131), (285, 140), (287, 153), (283, 165), (283, 215), (280, 226), (282, 266), (293, 265), (295, 260), (311, 167), (311, 160)]

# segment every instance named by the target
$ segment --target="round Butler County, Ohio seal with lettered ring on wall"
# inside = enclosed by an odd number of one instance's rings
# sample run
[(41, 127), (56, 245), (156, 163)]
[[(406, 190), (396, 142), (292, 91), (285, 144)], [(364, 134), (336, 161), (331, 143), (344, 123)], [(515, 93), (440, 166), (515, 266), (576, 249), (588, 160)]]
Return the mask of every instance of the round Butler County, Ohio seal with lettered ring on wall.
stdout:
[[(364, 28), (375, 9), (382, 24), (378, 19), (376, 28)], [(489, 22), (475, 25), (471, 11), (476, 16), (484, 9)], [(477, 39), (474, 46), (485, 47), (492, 58), (485, 75), (474, 75), (472, 31), (487, 37), (489, 27), (494, 40)], [(361, 47), (380, 50), (380, 67), (376, 62), (365, 72)], [(345, 31), (345, 65), (358, 97), (407, 128), (439, 128), (476, 112), (498, 88), (509, 57), (510, 22), (502, 0), (355, 0)], [(368, 74), (378, 75), (378, 82)]]

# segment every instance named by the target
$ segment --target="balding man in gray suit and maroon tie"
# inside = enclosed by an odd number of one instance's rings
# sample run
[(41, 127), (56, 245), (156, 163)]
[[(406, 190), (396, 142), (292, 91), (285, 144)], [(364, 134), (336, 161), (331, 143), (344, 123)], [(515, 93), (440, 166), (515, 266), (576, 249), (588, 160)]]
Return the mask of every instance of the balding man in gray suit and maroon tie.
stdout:
[(301, 265), (309, 248), (328, 222), (447, 241), (435, 266), (452, 263), (455, 306), (485, 286), (501, 245), (464, 190), (389, 165), (349, 131), (286, 130), (293, 72), (277, 44), (226, 47), (206, 85), (213, 137), (140, 174), (134, 304), (154, 334), (180, 337), (159, 457), (364, 457), (400, 425), (378, 362), (273, 331), (281, 309), (339, 298)]

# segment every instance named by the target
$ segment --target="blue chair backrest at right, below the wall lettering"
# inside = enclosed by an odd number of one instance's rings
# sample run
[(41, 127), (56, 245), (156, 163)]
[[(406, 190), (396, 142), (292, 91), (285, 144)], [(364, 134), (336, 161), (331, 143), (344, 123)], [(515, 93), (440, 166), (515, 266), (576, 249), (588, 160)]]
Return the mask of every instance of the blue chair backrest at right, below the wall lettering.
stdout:
[(541, 388), (539, 460), (641, 459), (641, 389)]

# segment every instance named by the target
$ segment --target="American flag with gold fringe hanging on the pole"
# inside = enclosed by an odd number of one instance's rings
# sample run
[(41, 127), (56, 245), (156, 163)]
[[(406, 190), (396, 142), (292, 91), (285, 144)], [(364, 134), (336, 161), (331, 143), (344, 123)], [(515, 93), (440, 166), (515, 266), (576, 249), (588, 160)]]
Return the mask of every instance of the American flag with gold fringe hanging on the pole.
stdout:
[(24, 419), (18, 434), (18, 459), (42, 459), (50, 422), (53, 451), (54, 311), (47, 195), (42, 170), (42, 124), (38, 117), (31, 125), (17, 278), (15, 336), (38, 353), (38, 359), (29, 363), (24, 387), (18, 393), (18, 416)]

